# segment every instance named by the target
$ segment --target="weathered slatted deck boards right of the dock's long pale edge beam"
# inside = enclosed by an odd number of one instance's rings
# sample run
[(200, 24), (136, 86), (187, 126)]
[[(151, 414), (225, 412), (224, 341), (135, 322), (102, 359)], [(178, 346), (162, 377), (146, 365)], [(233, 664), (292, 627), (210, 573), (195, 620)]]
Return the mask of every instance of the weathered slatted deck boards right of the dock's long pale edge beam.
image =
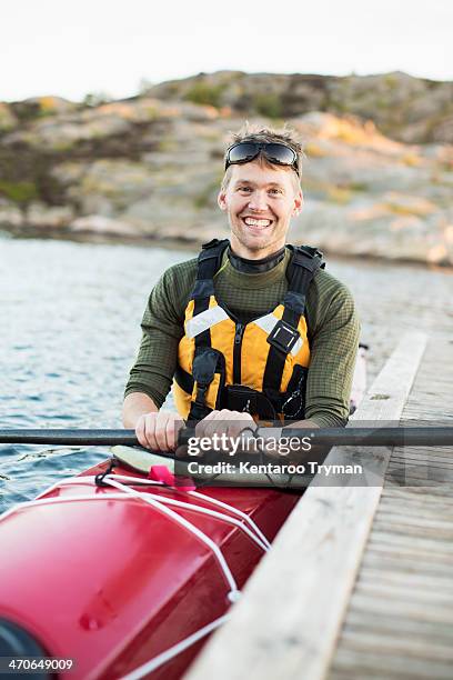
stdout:
[[(429, 341), (403, 419), (453, 424), (447, 337)], [(392, 452), (328, 673), (329, 680), (365, 677), (453, 678), (452, 448)]]

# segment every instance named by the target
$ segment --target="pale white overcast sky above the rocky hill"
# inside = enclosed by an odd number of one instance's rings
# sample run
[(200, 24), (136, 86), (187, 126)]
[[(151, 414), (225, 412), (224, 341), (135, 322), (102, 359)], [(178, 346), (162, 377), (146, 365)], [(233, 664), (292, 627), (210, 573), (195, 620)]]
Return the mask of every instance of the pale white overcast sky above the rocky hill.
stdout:
[(452, 0), (0, 0), (0, 101), (201, 71), (453, 80)]

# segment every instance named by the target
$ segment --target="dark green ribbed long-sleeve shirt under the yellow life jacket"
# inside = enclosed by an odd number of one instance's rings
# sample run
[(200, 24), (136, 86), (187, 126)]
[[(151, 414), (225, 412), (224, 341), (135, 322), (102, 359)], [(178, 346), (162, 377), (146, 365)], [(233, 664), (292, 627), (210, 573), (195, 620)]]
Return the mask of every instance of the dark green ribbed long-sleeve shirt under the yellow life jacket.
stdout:
[[(243, 273), (223, 256), (215, 276), (215, 297), (242, 321), (274, 309), (288, 288), (291, 251), (270, 271)], [(177, 367), (184, 333), (184, 312), (197, 276), (197, 258), (168, 269), (151, 291), (142, 320), (142, 341), (125, 394), (144, 392), (161, 408)], [(310, 368), (305, 418), (320, 427), (346, 422), (359, 344), (359, 320), (348, 288), (320, 269), (306, 297)]]

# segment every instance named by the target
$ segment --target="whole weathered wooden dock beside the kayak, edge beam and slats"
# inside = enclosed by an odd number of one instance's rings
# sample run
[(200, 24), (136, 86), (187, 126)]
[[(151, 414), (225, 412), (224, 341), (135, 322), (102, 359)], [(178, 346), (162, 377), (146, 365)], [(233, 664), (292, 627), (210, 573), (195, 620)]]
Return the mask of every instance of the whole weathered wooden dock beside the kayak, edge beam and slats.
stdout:
[[(447, 334), (412, 333), (349, 427), (453, 424), (452, 358)], [(453, 678), (453, 448), (325, 462), (360, 460), (368, 487), (316, 476), (188, 679)]]

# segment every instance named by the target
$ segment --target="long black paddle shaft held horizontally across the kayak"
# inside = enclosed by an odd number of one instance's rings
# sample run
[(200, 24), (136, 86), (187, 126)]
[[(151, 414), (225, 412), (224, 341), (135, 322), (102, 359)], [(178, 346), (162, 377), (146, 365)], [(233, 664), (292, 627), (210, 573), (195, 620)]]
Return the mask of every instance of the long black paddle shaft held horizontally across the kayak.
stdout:
[[(256, 436), (264, 437), (265, 428)], [(400, 427), (400, 428), (310, 428), (286, 427), (284, 438), (310, 438), (311, 446), (366, 446), (366, 447), (453, 447), (453, 427)], [(195, 437), (193, 429), (184, 428), (179, 446), (185, 446)], [(23, 429), (0, 430), (0, 444), (59, 444), (59, 446), (140, 446), (134, 430), (70, 430)]]

